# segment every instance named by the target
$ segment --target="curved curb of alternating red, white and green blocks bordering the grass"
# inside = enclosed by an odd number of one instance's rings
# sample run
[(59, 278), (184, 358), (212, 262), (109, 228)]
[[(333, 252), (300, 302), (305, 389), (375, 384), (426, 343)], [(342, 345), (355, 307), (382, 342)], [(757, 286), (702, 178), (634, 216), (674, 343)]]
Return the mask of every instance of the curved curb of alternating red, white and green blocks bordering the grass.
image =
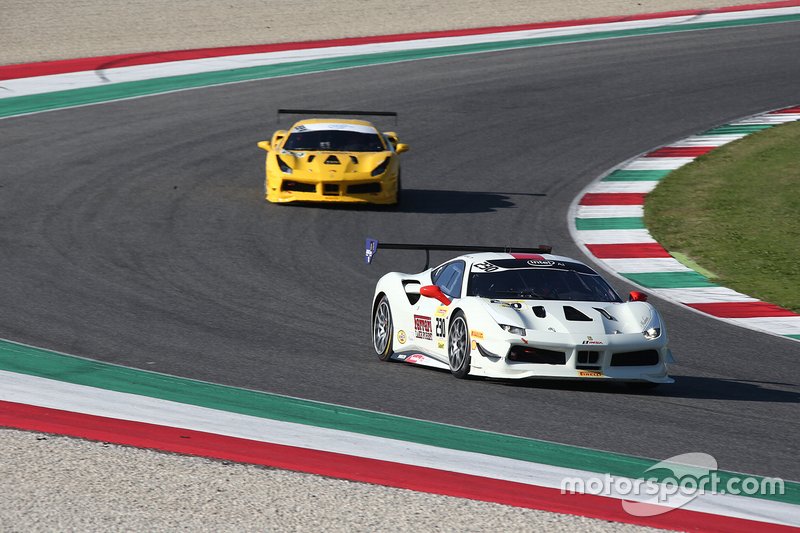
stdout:
[(800, 106), (761, 113), (623, 163), (573, 202), (573, 237), (603, 267), (662, 298), (738, 326), (800, 340), (800, 315), (713, 283), (658, 244), (642, 219), (647, 194), (673, 170), (751, 133), (798, 120)]

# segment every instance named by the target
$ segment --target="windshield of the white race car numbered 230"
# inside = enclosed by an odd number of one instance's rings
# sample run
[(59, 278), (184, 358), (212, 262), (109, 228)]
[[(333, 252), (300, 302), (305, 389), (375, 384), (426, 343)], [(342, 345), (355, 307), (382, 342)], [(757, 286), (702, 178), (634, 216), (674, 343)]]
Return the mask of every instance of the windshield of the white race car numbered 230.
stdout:
[[(469, 275), (467, 296), (523, 300), (620, 302), (619, 296), (595, 272), (559, 268), (514, 268)], [(588, 270), (588, 269), (586, 269)]]

